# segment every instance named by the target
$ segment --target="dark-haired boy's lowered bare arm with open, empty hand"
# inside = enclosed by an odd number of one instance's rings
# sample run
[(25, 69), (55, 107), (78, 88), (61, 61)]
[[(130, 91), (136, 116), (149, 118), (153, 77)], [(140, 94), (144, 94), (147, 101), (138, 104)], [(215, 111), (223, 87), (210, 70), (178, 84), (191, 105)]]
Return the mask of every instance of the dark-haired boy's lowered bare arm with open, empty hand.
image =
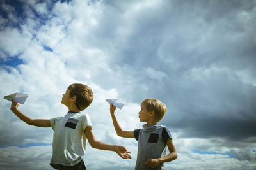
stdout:
[(111, 150), (115, 151), (122, 159), (131, 159), (131, 152), (128, 152), (124, 146), (118, 146), (118, 145), (109, 145), (107, 143), (103, 143), (101, 141), (97, 141), (93, 135), (92, 132), (92, 126), (86, 127), (84, 131), (86, 138), (88, 139), (88, 142), (92, 146), (92, 148), (96, 148), (99, 150)]

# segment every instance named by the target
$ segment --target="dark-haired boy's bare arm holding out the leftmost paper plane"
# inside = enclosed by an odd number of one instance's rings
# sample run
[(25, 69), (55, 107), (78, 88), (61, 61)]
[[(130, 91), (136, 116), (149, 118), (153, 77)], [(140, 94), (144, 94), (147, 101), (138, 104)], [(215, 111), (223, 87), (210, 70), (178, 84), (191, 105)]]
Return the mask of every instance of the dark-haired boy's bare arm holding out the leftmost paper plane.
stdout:
[(18, 106), (19, 104), (12, 100), (12, 106), (10, 109), (17, 117), (20, 118), (20, 120), (22, 120), (23, 122), (26, 122), (26, 124), (35, 125), (38, 127), (51, 127), (49, 119), (33, 119), (30, 117), (27, 117), (24, 113), (18, 110)]

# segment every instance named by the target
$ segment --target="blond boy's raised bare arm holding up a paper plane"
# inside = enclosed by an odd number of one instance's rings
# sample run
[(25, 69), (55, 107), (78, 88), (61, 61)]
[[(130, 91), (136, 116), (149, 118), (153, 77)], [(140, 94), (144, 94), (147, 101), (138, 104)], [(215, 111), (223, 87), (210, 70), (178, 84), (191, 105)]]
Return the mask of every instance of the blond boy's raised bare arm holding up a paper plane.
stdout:
[(112, 117), (113, 125), (115, 127), (116, 134), (118, 136), (124, 137), (124, 138), (134, 138), (134, 132), (133, 131), (123, 131), (120, 125), (118, 124), (116, 117), (115, 117), (115, 110), (116, 106), (113, 104), (110, 104), (110, 114)]

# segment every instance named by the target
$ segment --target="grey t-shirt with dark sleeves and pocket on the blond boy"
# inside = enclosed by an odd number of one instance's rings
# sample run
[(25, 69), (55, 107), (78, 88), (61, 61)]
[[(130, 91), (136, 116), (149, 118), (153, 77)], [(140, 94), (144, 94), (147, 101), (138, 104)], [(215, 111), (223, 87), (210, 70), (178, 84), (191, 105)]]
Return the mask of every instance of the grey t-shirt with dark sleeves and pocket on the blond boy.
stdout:
[(164, 169), (163, 164), (154, 168), (146, 167), (148, 159), (157, 159), (166, 154), (166, 142), (172, 138), (166, 127), (157, 123), (153, 125), (143, 125), (143, 129), (134, 130), (134, 137), (138, 141), (138, 154), (136, 170)]

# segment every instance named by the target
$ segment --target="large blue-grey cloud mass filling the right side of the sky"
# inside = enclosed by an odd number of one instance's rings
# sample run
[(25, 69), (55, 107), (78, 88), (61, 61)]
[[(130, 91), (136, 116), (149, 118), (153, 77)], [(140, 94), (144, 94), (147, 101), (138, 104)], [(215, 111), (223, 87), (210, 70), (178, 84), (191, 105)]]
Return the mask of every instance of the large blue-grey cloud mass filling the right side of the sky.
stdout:
[[(182, 136), (242, 141), (255, 136), (255, 84), (238, 76), (245, 71), (255, 78), (255, 1), (166, 3), (152, 13), (145, 7), (132, 22), (116, 17), (136, 30), (117, 50), (118, 58), (109, 62), (124, 77), (113, 80), (120, 84), (118, 92), (129, 92), (127, 100), (137, 103), (156, 97), (174, 107), (178, 113), (170, 110), (163, 122), (180, 129)], [(108, 40), (115, 43), (115, 37)], [(168, 78), (143, 77), (148, 67)], [(192, 77), (194, 69), (200, 80)]]

